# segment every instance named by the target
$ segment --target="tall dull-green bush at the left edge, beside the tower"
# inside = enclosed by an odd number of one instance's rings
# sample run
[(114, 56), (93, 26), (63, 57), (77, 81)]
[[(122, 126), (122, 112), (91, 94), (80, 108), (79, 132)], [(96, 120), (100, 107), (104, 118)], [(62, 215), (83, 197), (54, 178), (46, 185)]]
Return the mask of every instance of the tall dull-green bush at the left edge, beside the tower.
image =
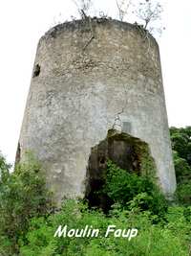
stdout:
[(0, 170), (0, 252), (8, 256), (18, 252), (18, 240), (25, 236), (32, 217), (47, 215), (53, 205), (41, 167), (32, 155), (12, 174), (1, 156)]

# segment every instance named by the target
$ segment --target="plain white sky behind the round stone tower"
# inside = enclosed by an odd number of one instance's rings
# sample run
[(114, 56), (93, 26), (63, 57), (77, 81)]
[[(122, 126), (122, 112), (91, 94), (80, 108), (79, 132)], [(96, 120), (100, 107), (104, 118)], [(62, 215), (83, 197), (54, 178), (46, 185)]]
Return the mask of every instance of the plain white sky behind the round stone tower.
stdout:
[[(115, 0), (96, 0), (115, 15)], [(166, 30), (159, 39), (170, 126), (191, 126), (191, 1), (160, 1)], [(60, 14), (61, 13), (61, 14)], [(76, 15), (70, 0), (0, 2), (0, 151), (13, 163), (38, 39), (57, 21)]]

